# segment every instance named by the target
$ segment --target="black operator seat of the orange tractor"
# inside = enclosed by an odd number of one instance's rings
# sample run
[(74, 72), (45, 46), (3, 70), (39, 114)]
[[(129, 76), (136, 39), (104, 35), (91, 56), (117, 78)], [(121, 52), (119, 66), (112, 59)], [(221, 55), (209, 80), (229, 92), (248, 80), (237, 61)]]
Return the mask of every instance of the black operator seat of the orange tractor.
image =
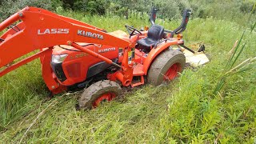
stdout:
[(159, 25), (153, 25), (150, 27), (147, 37), (138, 40), (138, 48), (144, 50), (150, 50), (151, 47), (163, 38), (164, 35), (164, 28)]

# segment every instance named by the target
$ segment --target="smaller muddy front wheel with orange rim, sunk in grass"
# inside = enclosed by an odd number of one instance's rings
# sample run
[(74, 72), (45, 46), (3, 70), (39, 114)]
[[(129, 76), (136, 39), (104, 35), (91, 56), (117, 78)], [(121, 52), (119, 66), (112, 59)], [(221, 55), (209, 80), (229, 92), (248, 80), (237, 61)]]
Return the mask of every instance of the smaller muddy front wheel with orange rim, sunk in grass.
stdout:
[(122, 89), (117, 82), (110, 80), (95, 82), (84, 90), (79, 99), (79, 106), (83, 109), (95, 108), (101, 102), (111, 101), (120, 94)]

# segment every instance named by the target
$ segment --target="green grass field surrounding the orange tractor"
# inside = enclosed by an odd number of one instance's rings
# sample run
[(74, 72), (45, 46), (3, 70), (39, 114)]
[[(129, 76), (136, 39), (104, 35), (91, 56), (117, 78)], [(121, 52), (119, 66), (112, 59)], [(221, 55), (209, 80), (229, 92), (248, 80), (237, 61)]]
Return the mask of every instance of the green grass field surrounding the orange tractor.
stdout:
[[(124, 25), (150, 26), (146, 16), (84, 16), (62, 12), (108, 31)], [(158, 20), (173, 30), (180, 21)], [(0, 78), (0, 141), (29, 143), (254, 143), (256, 141), (255, 68), (226, 81), (222, 94), (214, 89), (229, 58), (228, 52), (246, 29), (214, 18), (190, 20), (186, 45), (206, 44), (211, 61), (186, 69), (165, 86), (141, 86), (95, 110), (76, 110), (78, 93), (47, 100), (38, 60)], [(255, 57), (256, 33), (238, 62)]]

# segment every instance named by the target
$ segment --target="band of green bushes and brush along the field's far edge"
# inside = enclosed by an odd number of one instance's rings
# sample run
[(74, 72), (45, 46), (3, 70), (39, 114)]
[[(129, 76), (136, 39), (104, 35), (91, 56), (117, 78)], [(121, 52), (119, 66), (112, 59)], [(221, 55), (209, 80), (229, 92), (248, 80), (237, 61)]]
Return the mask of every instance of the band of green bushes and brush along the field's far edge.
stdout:
[[(158, 17), (174, 20), (180, 17), (182, 10), (193, 10), (194, 18), (218, 18), (238, 22), (246, 26), (246, 20), (255, 0), (6, 0), (0, 2), (0, 21), (24, 6), (37, 6), (46, 10), (77, 11), (80, 14), (119, 15), (129, 18), (132, 14), (148, 14), (152, 6), (159, 8)], [(253, 18), (256, 18), (254, 10)]]

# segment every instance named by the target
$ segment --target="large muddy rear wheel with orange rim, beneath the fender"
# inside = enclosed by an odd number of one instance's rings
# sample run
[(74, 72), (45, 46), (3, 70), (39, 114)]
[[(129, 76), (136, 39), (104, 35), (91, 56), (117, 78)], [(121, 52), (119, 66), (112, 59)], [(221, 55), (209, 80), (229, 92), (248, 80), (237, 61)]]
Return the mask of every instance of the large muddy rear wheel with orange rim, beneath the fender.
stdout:
[(178, 50), (165, 50), (159, 54), (150, 66), (147, 81), (158, 86), (162, 82), (170, 82), (181, 73), (186, 64), (185, 55)]

